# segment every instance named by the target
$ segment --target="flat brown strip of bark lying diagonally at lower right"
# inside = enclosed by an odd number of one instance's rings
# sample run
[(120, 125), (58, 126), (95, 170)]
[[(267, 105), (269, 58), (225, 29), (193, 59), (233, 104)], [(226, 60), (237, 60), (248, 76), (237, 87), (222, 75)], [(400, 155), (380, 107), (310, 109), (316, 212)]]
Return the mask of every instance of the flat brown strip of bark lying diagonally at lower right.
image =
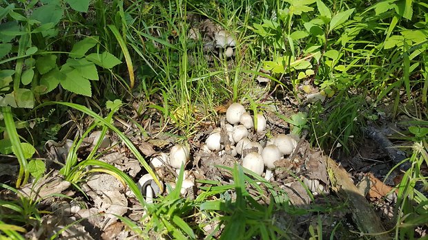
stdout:
[(385, 228), (381, 225), (378, 215), (376, 215), (367, 202), (367, 199), (353, 184), (347, 171), (342, 166), (336, 164), (330, 157), (327, 157), (327, 164), (335, 178), (331, 179), (334, 186), (333, 190), (349, 201), (353, 220), (356, 221), (360, 231), (363, 234), (368, 234), (369, 237), (373, 237), (373, 239), (391, 239), (385, 233)]

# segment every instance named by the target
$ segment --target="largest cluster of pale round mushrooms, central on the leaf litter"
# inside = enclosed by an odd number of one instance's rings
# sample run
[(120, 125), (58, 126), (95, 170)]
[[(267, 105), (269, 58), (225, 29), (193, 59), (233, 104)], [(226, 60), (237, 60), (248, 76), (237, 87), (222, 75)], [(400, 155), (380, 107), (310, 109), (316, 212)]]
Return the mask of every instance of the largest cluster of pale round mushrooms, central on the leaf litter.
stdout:
[[(262, 113), (251, 116), (240, 103), (233, 103), (226, 111), (225, 130), (231, 144), (232, 155), (240, 155), (242, 166), (258, 175), (266, 172), (266, 180), (273, 179), (272, 170), (275, 162), (293, 153), (297, 141), (291, 135), (279, 134), (267, 144), (258, 141), (266, 132), (266, 118)], [(255, 133), (255, 134), (254, 134)], [(251, 140), (252, 139), (252, 140)], [(202, 146), (205, 152), (219, 152), (224, 149), (221, 129), (214, 129)]]

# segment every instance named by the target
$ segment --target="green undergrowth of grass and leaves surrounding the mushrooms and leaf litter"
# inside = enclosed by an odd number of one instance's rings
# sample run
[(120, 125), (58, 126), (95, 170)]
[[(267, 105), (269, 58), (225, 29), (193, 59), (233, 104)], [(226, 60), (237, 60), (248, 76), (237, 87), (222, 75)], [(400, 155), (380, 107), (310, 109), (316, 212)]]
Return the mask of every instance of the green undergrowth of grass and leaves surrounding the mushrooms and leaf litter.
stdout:
[[(195, 32), (207, 20), (235, 41), (232, 57), (207, 49), (202, 30)], [(213, 222), (217, 229), (206, 239), (297, 239), (291, 226), (273, 219), (333, 206), (291, 206), (280, 188), (239, 164), (224, 167), (231, 183), (207, 180), (195, 199), (180, 197), (177, 186), (146, 204), (137, 180), (97, 152), (104, 135), (115, 133), (162, 189), (114, 120), (133, 122), (148, 136), (155, 133), (133, 118), (153, 118), (159, 132), (188, 142), (214, 126), (231, 102), (256, 114), (271, 111), (272, 97), (292, 102), (294, 109), (278, 118), (327, 155), (353, 153), (367, 124), (407, 116), (399, 139), (409, 146), (402, 150), (411, 167), (395, 188), (396, 225), (388, 230), (395, 239), (413, 239), (428, 222), (427, 91), (423, 0), (0, 1), (0, 161), (19, 164), (13, 179), (0, 175), (1, 189), (18, 196), (0, 200), (1, 236), (23, 239), (50, 214), (19, 188), (48, 175), (49, 140), (72, 138), (59, 173), (77, 190), (90, 173), (120, 179), (147, 211), (139, 223), (119, 219), (143, 239), (199, 239)], [(125, 107), (135, 115), (119, 111)], [(77, 149), (94, 129), (101, 137), (82, 157)], [(262, 197), (270, 204), (260, 204)], [(335, 239), (339, 226), (332, 232), (311, 226), (305, 236)]]

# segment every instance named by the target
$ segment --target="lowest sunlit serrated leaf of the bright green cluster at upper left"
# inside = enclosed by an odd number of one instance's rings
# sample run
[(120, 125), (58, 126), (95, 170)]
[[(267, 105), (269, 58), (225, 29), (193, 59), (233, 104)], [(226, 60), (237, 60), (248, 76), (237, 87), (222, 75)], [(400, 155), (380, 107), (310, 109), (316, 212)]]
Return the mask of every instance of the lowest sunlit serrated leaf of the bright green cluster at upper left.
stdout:
[(90, 81), (81, 76), (77, 69), (70, 67), (66, 63), (61, 67), (61, 72), (66, 75), (65, 80), (59, 80), (59, 83), (64, 87), (64, 89), (72, 91), (75, 94), (81, 94), (88, 97), (92, 96)]

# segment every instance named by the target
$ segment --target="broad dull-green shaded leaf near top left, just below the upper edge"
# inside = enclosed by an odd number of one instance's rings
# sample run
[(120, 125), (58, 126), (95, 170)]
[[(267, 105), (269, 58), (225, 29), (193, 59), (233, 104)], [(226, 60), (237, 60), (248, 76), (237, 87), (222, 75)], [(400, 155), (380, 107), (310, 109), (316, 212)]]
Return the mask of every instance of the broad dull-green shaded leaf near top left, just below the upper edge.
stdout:
[(33, 10), (30, 19), (40, 21), (41, 24), (54, 23), (57, 25), (63, 18), (63, 8), (55, 3), (49, 3)]

